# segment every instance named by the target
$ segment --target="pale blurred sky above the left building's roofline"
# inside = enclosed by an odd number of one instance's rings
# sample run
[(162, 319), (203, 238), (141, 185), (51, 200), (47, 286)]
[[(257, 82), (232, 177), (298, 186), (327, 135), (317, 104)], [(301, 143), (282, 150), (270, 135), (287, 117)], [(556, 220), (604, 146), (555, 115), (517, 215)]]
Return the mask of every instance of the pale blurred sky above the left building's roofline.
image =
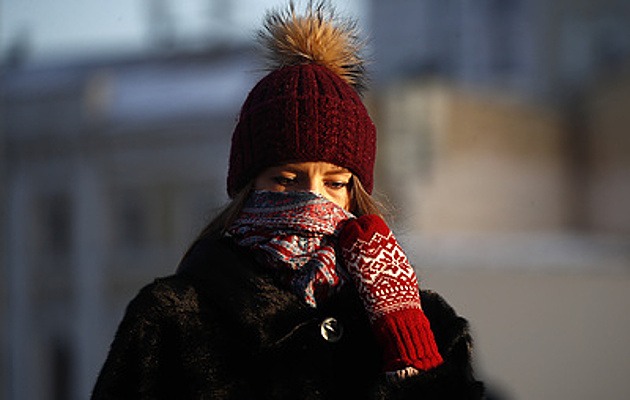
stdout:
[[(286, 0), (3, 0), (0, 57), (25, 42), (28, 60), (89, 56), (146, 49), (149, 4), (163, 3), (179, 41), (217, 33), (251, 36), (265, 10)], [(298, 1), (298, 4), (300, 2)], [(332, 0), (344, 15), (365, 18), (367, 0)], [(212, 20), (210, 10), (228, 7), (232, 21)]]

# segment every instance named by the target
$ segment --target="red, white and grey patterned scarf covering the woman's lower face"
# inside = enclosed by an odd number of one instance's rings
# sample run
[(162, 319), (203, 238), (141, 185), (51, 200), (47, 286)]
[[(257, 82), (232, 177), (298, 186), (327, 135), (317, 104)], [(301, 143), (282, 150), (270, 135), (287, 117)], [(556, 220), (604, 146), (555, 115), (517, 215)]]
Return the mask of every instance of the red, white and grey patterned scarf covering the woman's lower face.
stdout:
[(227, 233), (317, 307), (347, 280), (337, 266), (335, 244), (349, 218), (354, 216), (312, 192), (254, 191)]

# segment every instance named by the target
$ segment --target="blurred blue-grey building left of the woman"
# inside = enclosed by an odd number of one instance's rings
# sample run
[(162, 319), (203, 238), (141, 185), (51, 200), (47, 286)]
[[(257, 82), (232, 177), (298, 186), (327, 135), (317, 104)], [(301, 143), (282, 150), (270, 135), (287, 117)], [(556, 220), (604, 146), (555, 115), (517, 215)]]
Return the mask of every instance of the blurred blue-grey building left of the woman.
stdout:
[(86, 398), (127, 302), (226, 202), (249, 52), (3, 72), (7, 398)]

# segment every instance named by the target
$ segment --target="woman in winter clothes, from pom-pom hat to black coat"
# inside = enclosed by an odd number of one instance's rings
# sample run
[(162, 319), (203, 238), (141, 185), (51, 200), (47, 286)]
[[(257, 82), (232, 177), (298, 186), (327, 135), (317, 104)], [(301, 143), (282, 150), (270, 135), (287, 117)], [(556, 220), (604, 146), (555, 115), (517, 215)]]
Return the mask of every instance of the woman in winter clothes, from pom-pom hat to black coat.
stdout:
[(351, 25), (267, 16), (230, 205), (129, 304), (94, 399), (478, 399), (466, 321), (380, 217)]

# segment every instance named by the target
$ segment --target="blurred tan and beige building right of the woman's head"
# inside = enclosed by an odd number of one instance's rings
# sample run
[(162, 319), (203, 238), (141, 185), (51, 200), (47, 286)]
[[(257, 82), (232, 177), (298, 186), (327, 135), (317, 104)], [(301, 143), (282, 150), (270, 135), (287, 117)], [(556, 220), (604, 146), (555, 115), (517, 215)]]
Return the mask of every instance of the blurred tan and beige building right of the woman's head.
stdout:
[(455, 246), (423, 261), (626, 270), (628, 76), (602, 81), (581, 114), (442, 80), (382, 91), (377, 187), (399, 230)]

